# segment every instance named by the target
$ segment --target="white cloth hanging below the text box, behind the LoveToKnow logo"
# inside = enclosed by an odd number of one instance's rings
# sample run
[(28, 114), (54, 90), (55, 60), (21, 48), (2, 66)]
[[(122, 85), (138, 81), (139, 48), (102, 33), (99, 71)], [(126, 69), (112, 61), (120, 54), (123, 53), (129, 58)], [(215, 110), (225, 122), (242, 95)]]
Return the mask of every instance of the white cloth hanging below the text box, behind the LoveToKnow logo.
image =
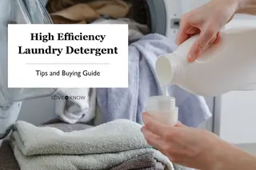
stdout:
[(96, 89), (60, 89), (55, 95), (55, 113), (69, 124), (89, 122), (95, 117)]

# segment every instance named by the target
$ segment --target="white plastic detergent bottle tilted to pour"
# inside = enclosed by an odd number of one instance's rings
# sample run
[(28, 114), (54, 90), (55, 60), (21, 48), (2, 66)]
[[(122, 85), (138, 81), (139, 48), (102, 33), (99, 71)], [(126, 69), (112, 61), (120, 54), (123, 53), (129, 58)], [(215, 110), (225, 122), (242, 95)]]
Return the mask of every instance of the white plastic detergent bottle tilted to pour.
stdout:
[(256, 89), (256, 28), (230, 28), (220, 36), (218, 45), (192, 63), (187, 55), (198, 36), (183, 42), (174, 53), (158, 57), (155, 69), (160, 84), (178, 85), (204, 97)]

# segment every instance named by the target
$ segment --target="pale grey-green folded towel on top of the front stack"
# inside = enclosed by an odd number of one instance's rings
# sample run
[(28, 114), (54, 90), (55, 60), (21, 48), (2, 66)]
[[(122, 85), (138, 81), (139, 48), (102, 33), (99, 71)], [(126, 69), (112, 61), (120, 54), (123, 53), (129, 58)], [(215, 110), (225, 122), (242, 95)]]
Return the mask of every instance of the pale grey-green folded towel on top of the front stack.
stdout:
[(18, 121), (11, 140), (21, 170), (103, 170), (146, 154), (174, 169), (166, 156), (146, 143), (141, 127), (133, 121), (117, 120), (62, 132)]

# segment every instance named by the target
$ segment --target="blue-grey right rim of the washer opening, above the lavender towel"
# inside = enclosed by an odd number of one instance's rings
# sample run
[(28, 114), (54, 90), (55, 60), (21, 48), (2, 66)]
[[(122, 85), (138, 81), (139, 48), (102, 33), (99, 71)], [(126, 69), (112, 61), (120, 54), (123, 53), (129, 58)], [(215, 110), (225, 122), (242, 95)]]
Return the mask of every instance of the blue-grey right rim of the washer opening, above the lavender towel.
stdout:
[(146, 0), (150, 10), (151, 30), (153, 33), (166, 35), (166, 6), (163, 0)]

